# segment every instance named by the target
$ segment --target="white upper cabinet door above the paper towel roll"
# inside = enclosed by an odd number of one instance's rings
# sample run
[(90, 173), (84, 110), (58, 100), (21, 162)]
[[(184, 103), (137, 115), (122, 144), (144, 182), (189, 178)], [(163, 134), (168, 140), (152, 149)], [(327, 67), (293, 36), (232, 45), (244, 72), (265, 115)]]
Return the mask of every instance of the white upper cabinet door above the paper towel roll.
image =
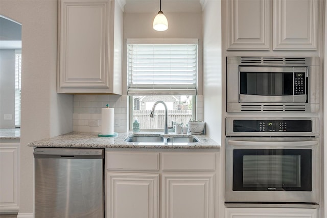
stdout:
[(108, 0), (59, 2), (58, 92), (62, 88), (109, 88), (109, 21)]

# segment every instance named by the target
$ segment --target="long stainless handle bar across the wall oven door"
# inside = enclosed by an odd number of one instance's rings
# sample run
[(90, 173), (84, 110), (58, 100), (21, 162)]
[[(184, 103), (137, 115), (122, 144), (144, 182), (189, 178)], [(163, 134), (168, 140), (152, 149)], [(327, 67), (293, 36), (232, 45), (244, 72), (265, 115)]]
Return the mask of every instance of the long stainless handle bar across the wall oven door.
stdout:
[(287, 147), (298, 146), (317, 146), (318, 141), (237, 141), (228, 140), (228, 146), (283, 146), (287, 143)]

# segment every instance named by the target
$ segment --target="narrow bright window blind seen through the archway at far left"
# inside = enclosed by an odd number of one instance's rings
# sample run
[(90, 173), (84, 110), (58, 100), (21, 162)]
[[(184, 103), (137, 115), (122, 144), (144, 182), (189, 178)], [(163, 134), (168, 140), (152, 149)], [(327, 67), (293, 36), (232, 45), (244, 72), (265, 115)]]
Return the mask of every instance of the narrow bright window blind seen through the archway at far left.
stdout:
[(21, 50), (15, 50), (15, 127), (20, 127)]

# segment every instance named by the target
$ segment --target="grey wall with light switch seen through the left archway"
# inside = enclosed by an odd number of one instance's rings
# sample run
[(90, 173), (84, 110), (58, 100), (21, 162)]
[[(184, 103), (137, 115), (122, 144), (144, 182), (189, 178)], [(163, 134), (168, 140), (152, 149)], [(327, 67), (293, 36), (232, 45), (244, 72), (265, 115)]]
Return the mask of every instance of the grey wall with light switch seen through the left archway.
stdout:
[(0, 50), (0, 128), (15, 128), (15, 50)]

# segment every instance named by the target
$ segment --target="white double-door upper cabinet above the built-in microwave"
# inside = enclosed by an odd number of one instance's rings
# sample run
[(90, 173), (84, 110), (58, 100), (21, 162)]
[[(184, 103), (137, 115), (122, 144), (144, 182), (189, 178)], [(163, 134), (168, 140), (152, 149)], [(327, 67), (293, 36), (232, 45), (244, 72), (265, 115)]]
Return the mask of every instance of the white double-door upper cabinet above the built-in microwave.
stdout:
[(315, 51), (317, 0), (228, 0), (227, 50)]

